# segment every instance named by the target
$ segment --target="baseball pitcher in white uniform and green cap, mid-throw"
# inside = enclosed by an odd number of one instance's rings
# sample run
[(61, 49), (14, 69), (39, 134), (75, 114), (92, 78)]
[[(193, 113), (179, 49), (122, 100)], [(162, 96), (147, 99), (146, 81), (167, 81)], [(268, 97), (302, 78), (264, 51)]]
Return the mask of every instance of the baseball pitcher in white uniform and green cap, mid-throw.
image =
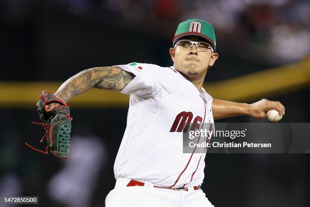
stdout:
[(202, 87), (218, 58), (213, 26), (181, 22), (173, 38), (173, 66), (132, 62), (94, 67), (64, 82), (55, 93), (64, 101), (89, 88), (130, 94), (127, 127), (114, 163), (115, 188), (106, 206), (213, 206), (201, 189), (205, 153), (182, 153), (182, 131), (238, 115), (284, 115), (279, 101), (247, 104), (213, 99)]

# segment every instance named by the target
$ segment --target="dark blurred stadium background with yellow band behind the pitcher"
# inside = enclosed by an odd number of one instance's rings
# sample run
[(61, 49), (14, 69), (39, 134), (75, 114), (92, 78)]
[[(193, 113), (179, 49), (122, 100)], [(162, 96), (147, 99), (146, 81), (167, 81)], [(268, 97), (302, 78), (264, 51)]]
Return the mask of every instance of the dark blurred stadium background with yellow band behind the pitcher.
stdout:
[[(44, 148), (43, 129), (30, 123), (38, 120), (37, 96), (94, 66), (172, 65), (176, 26), (190, 18), (215, 27), (219, 59), (205, 82), (214, 98), (280, 100), (283, 122), (310, 122), (309, 1), (2, 0), (0, 195), (40, 196), (40, 206), (103, 206), (128, 96), (91, 89), (69, 101), (67, 161), (24, 145)], [(203, 190), (215, 206), (310, 206), (309, 161), (308, 154), (209, 154)]]

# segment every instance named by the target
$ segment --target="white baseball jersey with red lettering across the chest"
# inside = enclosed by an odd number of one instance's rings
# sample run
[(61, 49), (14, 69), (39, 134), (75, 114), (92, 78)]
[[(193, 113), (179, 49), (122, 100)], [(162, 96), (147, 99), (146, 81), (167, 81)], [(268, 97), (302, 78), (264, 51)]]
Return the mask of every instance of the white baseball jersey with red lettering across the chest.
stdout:
[(124, 177), (165, 187), (193, 187), (204, 179), (205, 156), (183, 153), (187, 123), (214, 123), (212, 97), (174, 67), (114, 65), (135, 75), (121, 91), (130, 94), (127, 127), (114, 163)]

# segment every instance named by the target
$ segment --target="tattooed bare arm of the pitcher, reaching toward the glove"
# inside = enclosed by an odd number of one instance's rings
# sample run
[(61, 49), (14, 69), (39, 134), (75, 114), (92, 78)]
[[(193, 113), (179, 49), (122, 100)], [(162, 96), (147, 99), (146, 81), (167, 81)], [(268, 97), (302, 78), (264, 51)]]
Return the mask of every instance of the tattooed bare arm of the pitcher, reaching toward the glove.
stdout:
[(55, 95), (68, 101), (90, 88), (121, 91), (134, 75), (119, 67), (94, 67), (82, 71), (64, 82)]

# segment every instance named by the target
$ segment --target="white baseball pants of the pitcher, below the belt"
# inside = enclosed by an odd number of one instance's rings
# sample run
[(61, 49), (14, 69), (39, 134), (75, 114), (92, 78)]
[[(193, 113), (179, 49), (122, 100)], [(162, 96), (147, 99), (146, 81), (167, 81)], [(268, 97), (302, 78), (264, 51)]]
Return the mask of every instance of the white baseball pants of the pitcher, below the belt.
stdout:
[(115, 188), (105, 198), (106, 207), (213, 207), (214, 205), (206, 197), (202, 190), (189, 188), (184, 190), (171, 190), (154, 188), (153, 184), (145, 183), (145, 186), (130, 186), (131, 179), (118, 178)]

